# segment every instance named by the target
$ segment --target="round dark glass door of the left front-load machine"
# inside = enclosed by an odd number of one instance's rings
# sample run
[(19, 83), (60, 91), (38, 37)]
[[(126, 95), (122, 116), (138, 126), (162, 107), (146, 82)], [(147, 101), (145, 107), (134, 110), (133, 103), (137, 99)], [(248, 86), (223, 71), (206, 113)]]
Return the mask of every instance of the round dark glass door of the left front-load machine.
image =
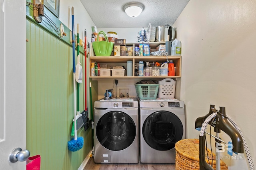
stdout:
[(134, 141), (136, 126), (128, 114), (122, 111), (110, 111), (99, 119), (96, 125), (96, 137), (106, 149), (123, 150)]

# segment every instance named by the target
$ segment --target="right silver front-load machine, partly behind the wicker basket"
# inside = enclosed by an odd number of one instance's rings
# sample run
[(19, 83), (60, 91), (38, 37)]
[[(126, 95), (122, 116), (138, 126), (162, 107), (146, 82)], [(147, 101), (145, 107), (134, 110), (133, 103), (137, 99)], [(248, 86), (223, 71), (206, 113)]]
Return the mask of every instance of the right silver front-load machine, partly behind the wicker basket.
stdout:
[(185, 139), (184, 102), (140, 100), (140, 162), (175, 163), (175, 143)]

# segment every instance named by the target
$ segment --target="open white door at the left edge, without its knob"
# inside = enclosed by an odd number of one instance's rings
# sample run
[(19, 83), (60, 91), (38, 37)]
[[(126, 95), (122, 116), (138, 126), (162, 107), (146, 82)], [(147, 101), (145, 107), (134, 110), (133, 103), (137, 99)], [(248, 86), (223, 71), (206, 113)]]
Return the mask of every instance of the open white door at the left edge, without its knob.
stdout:
[(15, 148), (26, 149), (26, 1), (0, 0), (0, 169), (26, 169)]

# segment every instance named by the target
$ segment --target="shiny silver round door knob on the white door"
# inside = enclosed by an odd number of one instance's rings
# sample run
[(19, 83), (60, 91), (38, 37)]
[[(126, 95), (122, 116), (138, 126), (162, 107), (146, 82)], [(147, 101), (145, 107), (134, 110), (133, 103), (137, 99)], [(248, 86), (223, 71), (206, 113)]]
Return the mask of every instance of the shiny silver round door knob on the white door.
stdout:
[(30, 152), (28, 150), (22, 150), (21, 148), (16, 148), (12, 150), (12, 153), (9, 156), (9, 159), (12, 163), (17, 161), (23, 162), (27, 160), (30, 156)]

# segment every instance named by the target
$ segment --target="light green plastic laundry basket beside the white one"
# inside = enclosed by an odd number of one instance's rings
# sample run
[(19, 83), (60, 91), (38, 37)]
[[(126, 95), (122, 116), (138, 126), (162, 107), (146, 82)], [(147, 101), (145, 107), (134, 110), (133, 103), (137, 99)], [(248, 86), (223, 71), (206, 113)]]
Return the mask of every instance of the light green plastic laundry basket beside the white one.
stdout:
[(159, 84), (135, 84), (135, 88), (140, 99), (156, 99)]

